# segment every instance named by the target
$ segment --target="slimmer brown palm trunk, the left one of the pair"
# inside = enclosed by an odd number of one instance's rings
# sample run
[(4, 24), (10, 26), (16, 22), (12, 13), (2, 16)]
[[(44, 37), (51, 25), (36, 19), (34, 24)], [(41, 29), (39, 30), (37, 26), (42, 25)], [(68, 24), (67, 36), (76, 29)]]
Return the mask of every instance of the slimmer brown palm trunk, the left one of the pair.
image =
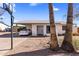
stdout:
[(57, 41), (57, 36), (56, 36), (54, 12), (53, 12), (52, 3), (49, 3), (48, 5), (49, 5), (49, 19), (50, 19), (50, 33), (51, 33), (50, 49), (58, 50), (58, 41)]

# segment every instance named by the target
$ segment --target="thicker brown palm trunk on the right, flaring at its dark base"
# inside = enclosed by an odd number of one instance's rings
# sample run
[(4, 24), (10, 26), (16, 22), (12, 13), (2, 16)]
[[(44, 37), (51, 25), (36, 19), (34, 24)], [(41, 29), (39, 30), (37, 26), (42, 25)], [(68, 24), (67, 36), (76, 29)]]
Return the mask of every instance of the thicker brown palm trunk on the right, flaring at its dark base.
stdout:
[(74, 48), (72, 45), (72, 27), (73, 27), (73, 4), (68, 4), (68, 14), (67, 14), (67, 24), (66, 24), (66, 33), (64, 36), (64, 41), (62, 43), (62, 49), (73, 52)]

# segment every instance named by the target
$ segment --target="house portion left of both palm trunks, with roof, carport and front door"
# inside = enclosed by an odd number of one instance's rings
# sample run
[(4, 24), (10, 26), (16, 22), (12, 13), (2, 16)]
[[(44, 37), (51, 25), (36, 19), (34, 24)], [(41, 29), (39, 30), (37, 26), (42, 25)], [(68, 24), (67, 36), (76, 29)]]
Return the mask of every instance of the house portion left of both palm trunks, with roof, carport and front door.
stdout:
[[(30, 29), (32, 32), (32, 36), (49, 36), (49, 30), (47, 30), (47, 26), (50, 26), (48, 20), (21, 20), (14, 22), (13, 31), (17, 32), (19, 27), (26, 27), (26, 29)], [(47, 32), (48, 31), (48, 32)]]

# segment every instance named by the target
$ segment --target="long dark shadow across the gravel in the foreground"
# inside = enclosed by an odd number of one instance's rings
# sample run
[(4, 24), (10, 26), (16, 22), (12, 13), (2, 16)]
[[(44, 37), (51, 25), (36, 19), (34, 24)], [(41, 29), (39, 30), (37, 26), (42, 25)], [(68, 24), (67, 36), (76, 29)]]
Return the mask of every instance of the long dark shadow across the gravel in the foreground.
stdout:
[(41, 50), (36, 50), (36, 51), (31, 51), (31, 52), (21, 52), (21, 53), (15, 53), (15, 54), (10, 54), (7, 56), (78, 56), (79, 54), (77, 53), (68, 53), (65, 51), (51, 51), (50, 49), (41, 49)]

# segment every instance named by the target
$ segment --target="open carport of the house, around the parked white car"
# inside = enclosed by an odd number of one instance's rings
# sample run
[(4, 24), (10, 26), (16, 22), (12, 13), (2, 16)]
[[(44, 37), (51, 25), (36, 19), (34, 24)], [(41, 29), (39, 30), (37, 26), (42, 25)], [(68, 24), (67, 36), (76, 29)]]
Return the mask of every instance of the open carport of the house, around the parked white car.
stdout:
[(32, 25), (31, 24), (26, 24), (26, 23), (17, 23), (17, 24), (13, 24), (13, 32), (16, 33), (16, 36), (19, 36), (18, 33), (20, 30), (23, 30), (23, 28), (25, 30), (32, 30)]

